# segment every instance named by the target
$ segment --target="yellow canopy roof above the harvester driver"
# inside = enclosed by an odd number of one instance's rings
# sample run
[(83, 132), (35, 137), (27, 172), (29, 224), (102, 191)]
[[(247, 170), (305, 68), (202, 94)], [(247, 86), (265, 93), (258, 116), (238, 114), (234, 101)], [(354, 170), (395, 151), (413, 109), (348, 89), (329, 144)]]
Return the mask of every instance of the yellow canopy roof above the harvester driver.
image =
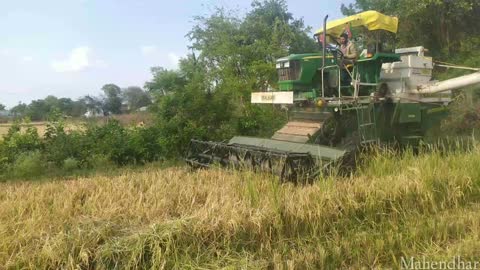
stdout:
[[(392, 33), (397, 33), (398, 18), (383, 15), (380, 12), (369, 10), (364, 11), (343, 19), (331, 21), (327, 23), (327, 35), (339, 37), (344, 31), (345, 27), (365, 26), (368, 30), (387, 30)], [(315, 35), (323, 33), (323, 28), (318, 29)]]

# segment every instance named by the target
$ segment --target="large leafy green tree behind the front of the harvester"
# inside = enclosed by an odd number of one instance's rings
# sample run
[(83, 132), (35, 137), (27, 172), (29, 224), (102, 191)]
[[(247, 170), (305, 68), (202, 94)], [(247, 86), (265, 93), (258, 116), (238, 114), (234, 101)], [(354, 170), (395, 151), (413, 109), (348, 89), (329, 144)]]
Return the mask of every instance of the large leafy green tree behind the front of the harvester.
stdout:
[(192, 54), (177, 71), (152, 69), (145, 85), (155, 96), (152, 110), (166, 157), (181, 155), (192, 138), (271, 135), (285, 114), (278, 107), (252, 106), (250, 93), (276, 85), (277, 58), (317, 49), (285, 1), (254, 1), (244, 18), (217, 9), (195, 21), (188, 34)]

